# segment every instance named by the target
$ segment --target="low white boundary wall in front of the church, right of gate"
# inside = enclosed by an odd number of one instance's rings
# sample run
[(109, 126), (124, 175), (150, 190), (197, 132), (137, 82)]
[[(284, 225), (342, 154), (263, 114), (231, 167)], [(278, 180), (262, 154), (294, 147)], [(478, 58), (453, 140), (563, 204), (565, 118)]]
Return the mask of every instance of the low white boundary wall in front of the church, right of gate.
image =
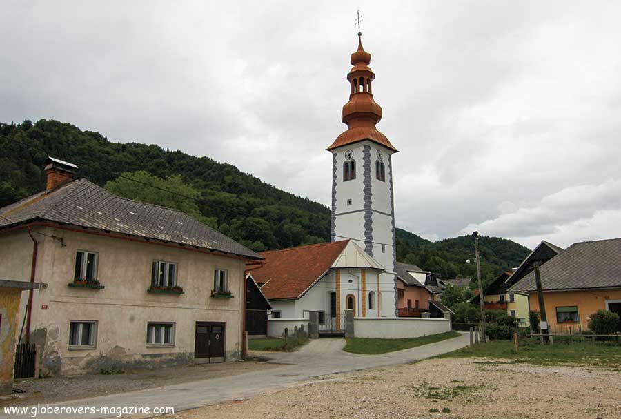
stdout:
[(354, 318), (357, 338), (418, 338), (451, 331), (446, 318)]

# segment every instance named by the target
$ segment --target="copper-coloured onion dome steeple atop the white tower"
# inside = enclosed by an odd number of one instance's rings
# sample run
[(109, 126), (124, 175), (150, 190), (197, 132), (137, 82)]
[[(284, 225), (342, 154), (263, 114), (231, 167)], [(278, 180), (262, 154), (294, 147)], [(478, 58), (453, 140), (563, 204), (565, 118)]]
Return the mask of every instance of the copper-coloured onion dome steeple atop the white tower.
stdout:
[(397, 152), (386, 136), (375, 128), (375, 124), (382, 119), (382, 107), (373, 100), (371, 83), (375, 79), (375, 73), (368, 66), (371, 63), (371, 54), (362, 48), (360, 32), (358, 49), (351, 54), (350, 63), (353, 68), (347, 74), (350, 85), (349, 101), (343, 106), (342, 112), (342, 121), (347, 124), (348, 130), (339, 135), (327, 150), (369, 140)]

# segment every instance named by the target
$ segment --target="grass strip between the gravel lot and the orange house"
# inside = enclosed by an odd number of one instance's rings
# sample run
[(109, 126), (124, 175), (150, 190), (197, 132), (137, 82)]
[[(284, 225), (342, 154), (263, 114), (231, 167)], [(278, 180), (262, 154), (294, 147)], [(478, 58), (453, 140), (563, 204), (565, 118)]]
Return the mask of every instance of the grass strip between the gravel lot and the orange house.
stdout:
[[(516, 353), (513, 341), (491, 340), (490, 342), (459, 349), (437, 358), (506, 358), (515, 362), (535, 365), (595, 365), (621, 366), (621, 345), (604, 342), (554, 343), (540, 345), (539, 340), (522, 339)], [(621, 369), (620, 369), (621, 371)]]

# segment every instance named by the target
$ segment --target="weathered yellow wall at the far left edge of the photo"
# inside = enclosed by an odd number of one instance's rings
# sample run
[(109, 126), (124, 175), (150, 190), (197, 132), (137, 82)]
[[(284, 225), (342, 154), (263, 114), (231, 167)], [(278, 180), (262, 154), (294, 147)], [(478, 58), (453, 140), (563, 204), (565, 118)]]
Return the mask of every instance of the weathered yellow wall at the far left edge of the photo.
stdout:
[(0, 395), (11, 394), (21, 290), (0, 288)]

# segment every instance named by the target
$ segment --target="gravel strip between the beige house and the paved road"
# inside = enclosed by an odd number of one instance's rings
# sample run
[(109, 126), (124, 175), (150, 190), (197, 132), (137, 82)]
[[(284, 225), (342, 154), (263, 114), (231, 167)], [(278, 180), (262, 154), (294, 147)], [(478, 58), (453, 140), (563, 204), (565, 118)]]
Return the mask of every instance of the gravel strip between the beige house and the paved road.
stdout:
[(26, 393), (21, 394), (19, 398), (0, 400), (0, 406), (32, 405), (37, 404), (37, 402), (53, 403), (105, 396), (106, 394), (124, 393), (163, 385), (233, 376), (273, 367), (276, 365), (257, 361), (222, 362), (219, 364), (148, 369), (114, 375), (83, 374), (38, 380), (16, 380), (14, 387), (26, 391)]

